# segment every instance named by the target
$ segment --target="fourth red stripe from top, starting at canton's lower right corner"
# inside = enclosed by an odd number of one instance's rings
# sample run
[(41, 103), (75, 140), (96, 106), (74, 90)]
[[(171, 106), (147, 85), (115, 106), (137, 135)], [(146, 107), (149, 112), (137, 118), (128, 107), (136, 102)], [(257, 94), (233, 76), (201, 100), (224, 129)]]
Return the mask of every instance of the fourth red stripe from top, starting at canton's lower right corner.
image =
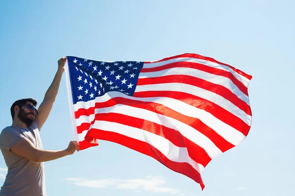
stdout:
[(152, 98), (152, 97), (166, 97), (166, 98), (174, 98), (180, 100), (186, 104), (194, 106), (199, 109), (203, 109), (208, 113), (212, 114), (214, 117), (219, 119), (220, 121), (234, 127), (236, 130), (243, 133), (247, 136), (250, 126), (243, 122), (240, 118), (236, 117), (229, 111), (223, 109), (219, 105), (208, 101), (204, 98), (199, 98), (197, 96), (183, 93), (183, 92), (174, 92), (174, 91), (145, 91), (145, 92), (137, 92), (133, 94), (133, 97), (138, 98)]

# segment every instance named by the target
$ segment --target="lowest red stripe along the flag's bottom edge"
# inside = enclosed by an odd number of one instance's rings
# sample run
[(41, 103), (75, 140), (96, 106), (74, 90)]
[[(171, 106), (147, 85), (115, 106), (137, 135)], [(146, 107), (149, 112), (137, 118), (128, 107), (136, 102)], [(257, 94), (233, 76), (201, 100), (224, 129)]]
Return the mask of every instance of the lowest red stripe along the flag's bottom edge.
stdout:
[(141, 152), (143, 154), (146, 154), (156, 159), (157, 161), (162, 163), (167, 168), (173, 170), (174, 172), (181, 173), (193, 179), (195, 182), (201, 185), (202, 190), (205, 188), (203, 180), (201, 178), (201, 174), (198, 171), (196, 171), (190, 164), (171, 161), (163, 153), (161, 153), (157, 148), (149, 145), (148, 143), (145, 143), (133, 138), (129, 138), (127, 136), (124, 136), (118, 133), (103, 131), (99, 129), (89, 130), (89, 132), (87, 133), (87, 136), (100, 139), (100, 140), (115, 142), (124, 147), (128, 147), (138, 152)]

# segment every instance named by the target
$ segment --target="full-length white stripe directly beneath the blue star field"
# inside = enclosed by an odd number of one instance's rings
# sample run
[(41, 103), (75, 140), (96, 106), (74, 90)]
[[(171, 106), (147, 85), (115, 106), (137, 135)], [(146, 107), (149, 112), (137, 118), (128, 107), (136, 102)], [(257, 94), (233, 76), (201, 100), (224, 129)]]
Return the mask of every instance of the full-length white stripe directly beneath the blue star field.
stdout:
[(105, 94), (102, 97), (95, 98), (94, 100), (91, 100), (88, 102), (83, 102), (83, 101), (77, 102), (74, 105), (74, 108), (75, 108), (75, 111), (77, 111), (81, 107), (88, 109), (90, 107), (94, 107), (95, 102), (99, 102), (99, 103), (105, 102), (111, 98), (116, 98), (116, 97), (159, 103), (166, 107), (171, 108), (172, 110), (175, 110), (176, 112), (179, 112), (180, 114), (186, 115), (188, 117), (197, 118), (201, 120), (203, 123), (207, 124), (207, 126), (215, 130), (216, 133), (218, 133), (221, 137), (223, 137), (225, 140), (227, 140), (228, 142), (232, 143), (235, 146), (239, 144), (245, 138), (245, 136), (241, 132), (239, 132), (232, 126), (215, 118), (212, 114), (206, 112), (205, 110), (201, 110), (199, 108), (193, 107), (191, 105), (188, 105), (182, 101), (179, 101), (173, 98), (135, 98), (135, 97), (126, 96), (119, 92), (109, 92), (108, 94)]

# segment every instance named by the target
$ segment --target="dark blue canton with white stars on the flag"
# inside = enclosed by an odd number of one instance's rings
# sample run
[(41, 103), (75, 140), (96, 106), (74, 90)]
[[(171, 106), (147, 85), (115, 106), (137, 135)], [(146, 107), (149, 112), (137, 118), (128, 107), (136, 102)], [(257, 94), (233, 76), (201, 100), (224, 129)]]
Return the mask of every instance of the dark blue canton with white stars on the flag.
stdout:
[(67, 56), (73, 103), (89, 101), (110, 91), (134, 94), (144, 62), (94, 61)]

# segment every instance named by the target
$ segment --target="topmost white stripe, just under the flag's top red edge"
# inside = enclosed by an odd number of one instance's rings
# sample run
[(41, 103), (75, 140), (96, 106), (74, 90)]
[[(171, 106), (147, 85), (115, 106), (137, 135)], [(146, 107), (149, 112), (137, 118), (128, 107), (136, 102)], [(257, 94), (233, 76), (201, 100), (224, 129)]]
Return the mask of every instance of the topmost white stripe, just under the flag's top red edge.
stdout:
[(243, 76), (239, 73), (236, 73), (232, 68), (230, 68), (226, 65), (222, 65), (222, 64), (218, 64), (218, 63), (214, 63), (211, 61), (198, 59), (198, 58), (190, 58), (190, 57), (174, 58), (174, 59), (170, 59), (167, 61), (160, 61), (160, 62), (156, 62), (156, 63), (145, 63), (143, 68), (155, 68), (155, 67), (160, 67), (160, 66), (163, 66), (166, 64), (175, 63), (175, 62), (200, 63), (203, 65), (207, 65), (208, 67), (212, 67), (212, 68), (216, 68), (216, 69), (220, 69), (220, 70), (224, 70), (224, 71), (233, 73), (233, 75), (236, 77), (236, 79), (241, 81), (244, 84), (244, 86), (246, 86), (246, 87), (248, 87), (248, 84), (250, 81), (248, 78), (246, 78), (245, 76)]

